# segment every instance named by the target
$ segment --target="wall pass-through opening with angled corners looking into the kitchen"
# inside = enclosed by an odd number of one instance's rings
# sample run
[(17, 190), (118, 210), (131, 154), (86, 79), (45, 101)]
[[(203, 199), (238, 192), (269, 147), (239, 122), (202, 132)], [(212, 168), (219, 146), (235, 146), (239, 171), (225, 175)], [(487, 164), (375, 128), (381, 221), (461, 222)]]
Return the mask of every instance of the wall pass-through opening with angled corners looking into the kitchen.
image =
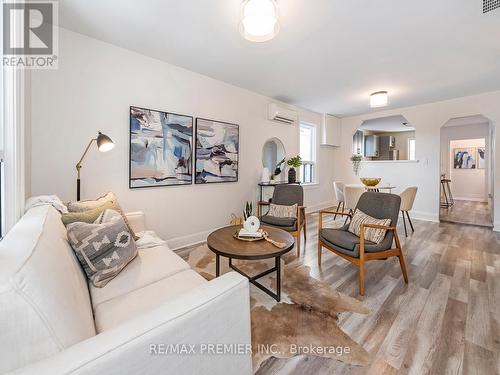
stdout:
[(415, 160), (415, 128), (402, 116), (365, 120), (352, 137), (352, 153), (366, 160)]

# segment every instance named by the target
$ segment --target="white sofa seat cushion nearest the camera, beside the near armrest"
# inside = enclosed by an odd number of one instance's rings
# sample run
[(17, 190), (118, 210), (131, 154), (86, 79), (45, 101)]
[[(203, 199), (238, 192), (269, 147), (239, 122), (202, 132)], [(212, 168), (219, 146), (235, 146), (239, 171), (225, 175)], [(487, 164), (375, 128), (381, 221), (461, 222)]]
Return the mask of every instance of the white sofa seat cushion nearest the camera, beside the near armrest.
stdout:
[(116, 327), (204, 283), (207, 283), (207, 280), (198, 273), (186, 270), (108, 300), (94, 308), (96, 329), (103, 332)]

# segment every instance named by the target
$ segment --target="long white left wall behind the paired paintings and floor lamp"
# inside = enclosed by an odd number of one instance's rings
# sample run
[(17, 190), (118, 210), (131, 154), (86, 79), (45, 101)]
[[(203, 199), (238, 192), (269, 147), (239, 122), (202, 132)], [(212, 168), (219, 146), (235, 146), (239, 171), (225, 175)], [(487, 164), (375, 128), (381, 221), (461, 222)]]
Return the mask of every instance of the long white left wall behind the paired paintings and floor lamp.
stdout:
[[(269, 98), (64, 29), (59, 38), (59, 69), (32, 77), (34, 195), (75, 199), (75, 163), (101, 130), (116, 147), (106, 154), (95, 148), (89, 152), (82, 198), (114, 191), (124, 210), (144, 211), (148, 226), (179, 247), (203, 240), (211, 229), (227, 224), (231, 213), (240, 214), (245, 201), (256, 200), (268, 138), (281, 139), (288, 156), (299, 151), (297, 125), (267, 120)], [(130, 105), (239, 124), (239, 181), (129, 190)], [(320, 114), (296, 109), (302, 121), (321, 123)], [(333, 149), (321, 148), (319, 155), (325, 186), (306, 190), (310, 208), (333, 199)]]

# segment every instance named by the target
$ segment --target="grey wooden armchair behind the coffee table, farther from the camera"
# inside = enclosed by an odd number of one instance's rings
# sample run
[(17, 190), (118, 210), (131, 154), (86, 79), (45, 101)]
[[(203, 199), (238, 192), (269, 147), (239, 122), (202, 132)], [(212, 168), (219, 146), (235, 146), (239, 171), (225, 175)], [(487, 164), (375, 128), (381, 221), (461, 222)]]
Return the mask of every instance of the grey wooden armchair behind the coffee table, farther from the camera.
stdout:
[(302, 230), (304, 230), (304, 241), (307, 239), (304, 189), (300, 185), (276, 185), (271, 202), (283, 206), (297, 204), (296, 217), (275, 217), (267, 213), (263, 214), (262, 207), (269, 206), (269, 202), (258, 203), (257, 215), (263, 224), (290, 232), (297, 239), (297, 256), (300, 257), (300, 233)]

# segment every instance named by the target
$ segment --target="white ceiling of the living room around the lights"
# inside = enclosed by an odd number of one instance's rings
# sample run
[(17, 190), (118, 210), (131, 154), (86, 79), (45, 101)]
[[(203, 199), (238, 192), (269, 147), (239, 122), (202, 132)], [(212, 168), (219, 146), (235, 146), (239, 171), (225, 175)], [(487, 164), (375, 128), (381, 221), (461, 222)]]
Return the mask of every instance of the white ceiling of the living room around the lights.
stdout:
[(64, 0), (61, 26), (319, 112), (500, 89), (500, 10), (481, 0), (278, 0), (281, 31), (238, 32), (239, 0)]

